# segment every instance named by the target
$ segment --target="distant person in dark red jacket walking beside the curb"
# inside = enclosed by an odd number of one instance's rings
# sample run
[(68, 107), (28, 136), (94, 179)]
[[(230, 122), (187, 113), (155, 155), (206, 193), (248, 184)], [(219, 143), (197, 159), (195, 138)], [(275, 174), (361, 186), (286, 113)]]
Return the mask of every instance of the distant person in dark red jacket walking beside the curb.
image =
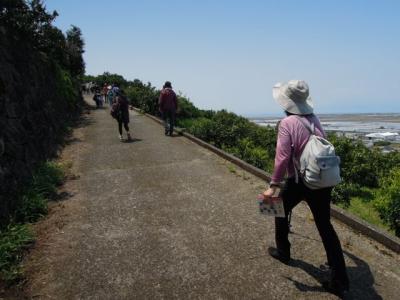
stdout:
[(176, 110), (178, 109), (178, 100), (171, 82), (166, 81), (159, 98), (159, 109), (165, 122), (165, 135), (172, 136), (174, 132)]

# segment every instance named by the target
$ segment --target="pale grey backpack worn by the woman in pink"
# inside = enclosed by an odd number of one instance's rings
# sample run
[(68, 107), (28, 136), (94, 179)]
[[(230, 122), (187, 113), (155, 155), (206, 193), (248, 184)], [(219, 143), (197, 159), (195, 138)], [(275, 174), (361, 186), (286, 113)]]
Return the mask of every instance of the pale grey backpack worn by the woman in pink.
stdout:
[[(293, 158), (297, 173), (303, 179), (304, 184), (313, 190), (333, 187), (339, 184), (340, 157), (335, 154), (333, 145), (323, 137), (315, 135), (313, 123), (296, 116), (296, 118), (310, 132), (310, 137), (300, 155), (300, 161)], [(296, 178), (297, 179), (297, 178)]]

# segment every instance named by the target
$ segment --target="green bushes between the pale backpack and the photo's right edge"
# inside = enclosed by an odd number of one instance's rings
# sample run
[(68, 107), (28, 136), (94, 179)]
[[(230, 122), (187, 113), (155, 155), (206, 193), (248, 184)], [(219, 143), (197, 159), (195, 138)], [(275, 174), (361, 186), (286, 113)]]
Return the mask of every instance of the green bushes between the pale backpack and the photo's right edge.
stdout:
[[(334, 135), (329, 138), (341, 158), (344, 180), (333, 189), (333, 201), (353, 207), (354, 212), (367, 221), (376, 219), (376, 212), (371, 211), (376, 209), (383, 222), (400, 236), (400, 153), (385, 154), (368, 149), (361, 141)], [(375, 188), (377, 192), (373, 195), (367, 188)], [(351, 200), (352, 197), (358, 200)], [(356, 208), (353, 201), (357, 202)], [(369, 213), (361, 207), (362, 203)]]

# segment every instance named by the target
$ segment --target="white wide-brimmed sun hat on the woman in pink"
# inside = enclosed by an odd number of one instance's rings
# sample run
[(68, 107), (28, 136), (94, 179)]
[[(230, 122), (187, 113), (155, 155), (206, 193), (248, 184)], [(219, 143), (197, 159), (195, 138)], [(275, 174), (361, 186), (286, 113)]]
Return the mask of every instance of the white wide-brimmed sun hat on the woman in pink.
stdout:
[(295, 115), (309, 115), (314, 112), (308, 85), (303, 80), (277, 83), (272, 88), (272, 96), (282, 108)]

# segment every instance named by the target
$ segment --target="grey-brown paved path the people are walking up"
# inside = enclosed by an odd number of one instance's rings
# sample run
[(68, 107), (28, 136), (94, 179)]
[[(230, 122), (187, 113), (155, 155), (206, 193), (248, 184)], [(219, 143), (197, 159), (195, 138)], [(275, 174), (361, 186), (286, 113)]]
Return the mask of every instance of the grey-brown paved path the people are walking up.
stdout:
[[(132, 143), (119, 142), (107, 109), (88, 118), (65, 149), (80, 175), (66, 186), (73, 196), (39, 225), (47, 234), (25, 263), (30, 297), (336, 298), (319, 282), (325, 253), (306, 206), (295, 210), (294, 261), (283, 265), (266, 254), (273, 219), (255, 200), (264, 182), (184, 137), (164, 136), (145, 116), (131, 115)], [(354, 298), (398, 297), (399, 256), (334, 226)]]

